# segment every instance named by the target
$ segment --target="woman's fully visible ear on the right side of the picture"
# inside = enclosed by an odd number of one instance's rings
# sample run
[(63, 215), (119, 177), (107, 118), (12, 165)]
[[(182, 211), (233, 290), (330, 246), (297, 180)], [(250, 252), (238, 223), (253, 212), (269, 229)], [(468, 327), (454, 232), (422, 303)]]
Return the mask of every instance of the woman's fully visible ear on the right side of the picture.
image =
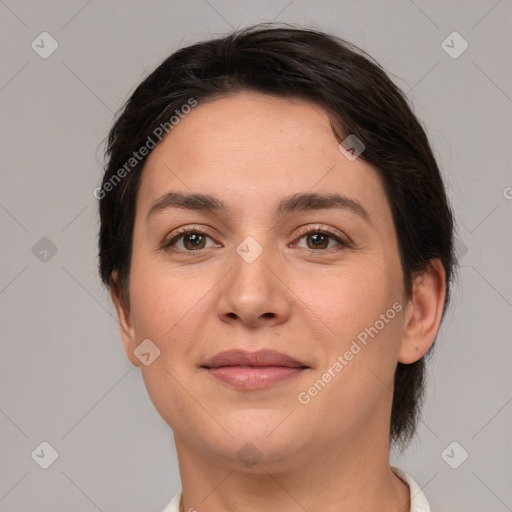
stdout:
[(423, 357), (433, 345), (443, 315), (446, 273), (439, 259), (414, 278), (412, 297), (405, 312), (405, 331), (398, 361), (411, 364)]

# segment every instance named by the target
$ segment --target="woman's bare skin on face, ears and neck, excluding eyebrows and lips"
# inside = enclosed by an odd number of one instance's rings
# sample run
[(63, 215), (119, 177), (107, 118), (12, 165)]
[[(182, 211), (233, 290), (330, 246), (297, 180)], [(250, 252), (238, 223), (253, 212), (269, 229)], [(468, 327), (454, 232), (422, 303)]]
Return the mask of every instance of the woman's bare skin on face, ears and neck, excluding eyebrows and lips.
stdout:
[[(434, 342), (445, 274), (434, 260), (406, 299), (380, 178), (338, 144), (320, 107), (242, 92), (199, 103), (147, 160), (130, 307), (115, 284), (111, 293), (127, 356), (174, 431), (182, 511), (409, 510), (409, 488), (389, 466), (393, 376), (398, 361), (416, 361)], [(146, 223), (169, 191), (213, 194), (229, 210), (173, 208)], [(281, 197), (301, 192), (357, 200), (371, 223), (346, 209), (275, 215)], [(174, 243), (177, 252), (160, 248), (187, 226), (208, 231), (200, 250), (190, 237)], [(303, 227), (313, 232), (299, 233)], [(351, 245), (329, 237), (317, 248), (311, 239), (325, 230)], [(263, 249), (252, 263), (236, 252), (248, 236)], [(395, 302), (402, 310), (299, 403), (298, 394)], [(160, 349), (149, 366), (134, 355), (147, 338)], [(201, 368), (232, 348), (274, 349), (309, 368), (263, 390), (236, 389)], [(251, 466), (237, 456), (246, 443), (261, 454)]]

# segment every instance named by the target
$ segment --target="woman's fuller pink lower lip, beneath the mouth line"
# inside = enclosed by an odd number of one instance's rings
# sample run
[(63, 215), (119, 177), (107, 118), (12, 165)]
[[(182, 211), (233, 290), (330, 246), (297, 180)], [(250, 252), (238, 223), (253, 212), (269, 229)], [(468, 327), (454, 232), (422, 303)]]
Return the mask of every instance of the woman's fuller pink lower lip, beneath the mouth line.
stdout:
[(287, 366), (221, 366), (207, 368), (210, 375), (239, 389), (264, 389), (296, 377), (305, 368)]

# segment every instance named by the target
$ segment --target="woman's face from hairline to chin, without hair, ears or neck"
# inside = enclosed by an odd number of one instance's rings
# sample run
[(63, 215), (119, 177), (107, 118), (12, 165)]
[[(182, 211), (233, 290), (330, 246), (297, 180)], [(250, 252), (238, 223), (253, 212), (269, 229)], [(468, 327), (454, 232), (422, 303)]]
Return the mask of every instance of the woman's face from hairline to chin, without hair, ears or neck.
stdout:
[[(397, 237), (376, 171), (338, 145), (320, 107), (243, 92), (199, 102), (147, 160), (123, 340), (177, 442), (210, 460), (387, 442), (407, 306)], [(149, 213), (171, 192), (180, 205)], [(234, 349), (297, 364), (205, 367)]]

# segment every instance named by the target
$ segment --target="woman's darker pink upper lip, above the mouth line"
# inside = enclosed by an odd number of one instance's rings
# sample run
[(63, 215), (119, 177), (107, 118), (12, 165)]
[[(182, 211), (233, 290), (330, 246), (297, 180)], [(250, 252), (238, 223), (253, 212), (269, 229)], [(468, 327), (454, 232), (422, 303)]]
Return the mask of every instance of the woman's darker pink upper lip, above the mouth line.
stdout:
[(226, 350), (219, 352), (203, 365), (205, 368), (220, 368), (221, 366), (287, 366), (290, 368), (308, 368), (304, 363), (275, 350)]

